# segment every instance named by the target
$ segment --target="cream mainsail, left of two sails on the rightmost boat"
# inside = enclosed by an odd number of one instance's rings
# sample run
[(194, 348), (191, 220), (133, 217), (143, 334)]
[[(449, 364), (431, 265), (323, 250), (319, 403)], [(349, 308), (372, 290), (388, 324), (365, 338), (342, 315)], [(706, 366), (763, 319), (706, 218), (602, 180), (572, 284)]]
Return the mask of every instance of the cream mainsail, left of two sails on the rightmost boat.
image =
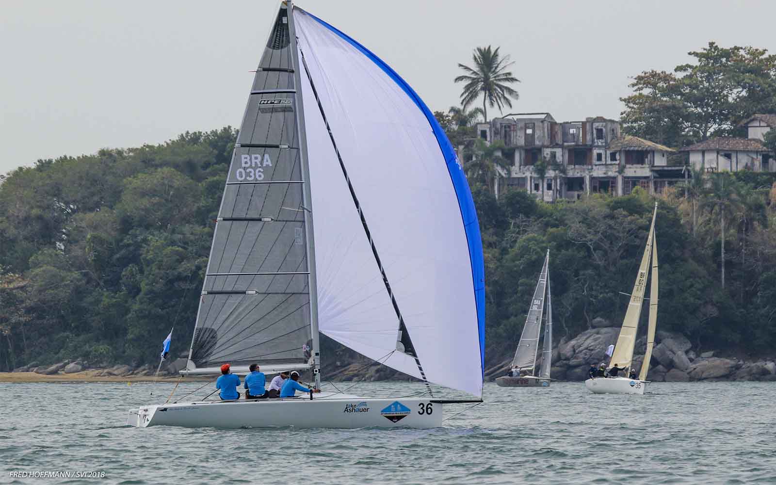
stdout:
[(633, 360), (633, 347), (636, 345), (636, 331), (639, 327), (639, 314), (644, 301), (644, 290), (646, 289), (646, 279), (650, 272), (650, 256), (652, 255), (652, 244), (655, 237), (655, 217), (657, 215), (657, 204), (652, 213), (652, 225), (650, 226), (650, 235), (646, 239), (646, 248), (639, 265), (639, 275), (636, 276), (636, 283), (633, 285), (628, 310), (625, 311), (625, 319), (622, 320), (620, 336), (617, 338), (615, 352), (611, 355), (609, 365), (618, 365), (620, 368), (630, 367)]

